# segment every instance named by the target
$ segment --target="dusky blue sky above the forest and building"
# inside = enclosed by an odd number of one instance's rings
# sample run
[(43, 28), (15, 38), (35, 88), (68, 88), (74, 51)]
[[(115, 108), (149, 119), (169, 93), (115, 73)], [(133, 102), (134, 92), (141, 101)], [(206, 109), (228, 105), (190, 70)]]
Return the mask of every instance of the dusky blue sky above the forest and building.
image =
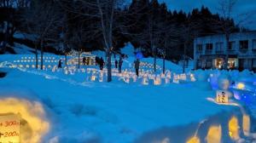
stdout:
[[(186, 12), (191, 11), (194, 8), (201, 8), (201, 5), (207, 6), (211, 9), (212, 13), (218, 13), (218, 0), (159, 0), (160, 3), (166, 2), (169, 9), (183, 9)], [(238, 0), (236, 7), (234, 8), (234, 17), (236, 21), (240, 21), (242, 16), (247, 12), (256, 11), (256, 0)], [(251, 17), (254, 21), (252, 24), (246, 22), (244, 25), (250, 29), (256, 30), (256, 14)]]

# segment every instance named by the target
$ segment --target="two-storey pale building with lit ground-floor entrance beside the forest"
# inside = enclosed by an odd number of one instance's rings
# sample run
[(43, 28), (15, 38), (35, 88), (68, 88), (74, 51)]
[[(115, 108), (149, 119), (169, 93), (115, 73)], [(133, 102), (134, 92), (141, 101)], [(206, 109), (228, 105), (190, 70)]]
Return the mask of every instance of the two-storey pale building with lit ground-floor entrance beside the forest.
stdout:
[(194, 60), (195, 69), (222, 69), (228, 64), (228, 69), (255, 72), (256, 31), (233, 33), (229, 42), (224, 35), (197, 37), (194, 40)]

